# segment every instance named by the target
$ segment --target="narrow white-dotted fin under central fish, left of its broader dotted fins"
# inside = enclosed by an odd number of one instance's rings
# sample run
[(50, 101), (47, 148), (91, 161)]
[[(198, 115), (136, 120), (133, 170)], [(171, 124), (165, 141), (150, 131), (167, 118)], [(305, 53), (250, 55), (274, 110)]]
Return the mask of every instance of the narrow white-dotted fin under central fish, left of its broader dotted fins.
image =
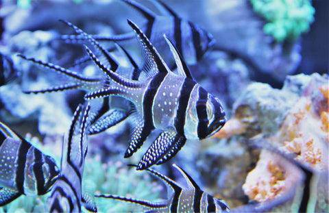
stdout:
[(136, 123), (136, 127), (132, 132), (132, 137), (130, 139), (129, 147), (125, 151), (125, 158), (129, 158), (135, 153), (141, 146), (146, 138), (151, 134), (153, 129), (148, 125), (145, 125), (144, 121), (139, 121)]

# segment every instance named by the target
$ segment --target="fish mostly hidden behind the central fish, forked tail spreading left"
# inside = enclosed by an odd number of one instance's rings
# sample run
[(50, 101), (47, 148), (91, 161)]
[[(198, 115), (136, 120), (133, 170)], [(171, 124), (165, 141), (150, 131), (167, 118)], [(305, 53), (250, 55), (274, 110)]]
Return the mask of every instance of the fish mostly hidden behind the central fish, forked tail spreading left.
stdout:
[[(62, 21), (62, 20), (61, 20)], [(99, 43), (93, 39), (90, 35), (86, 34), (82, 31), (82, 29), (79, 29), (72, 23), (69, 23), (68, 21), (62, 21), (66, 25), (69, 25), (69, 27), (72, 27), (77, 34), (80, 34), (81, 36), (84, 36), (86, 40), (88, 40), (89, 44), (101, 55), (103, 55), (104, 63), (108, 64), (109, 68), (111, 68), (112, 71), (125, 74), (129, 73), (129, 77), (132, 79), (138, 79), (139, 75), (141, 74), (140, 69), (138, 68), (138, 65), (132, 58), (132, 56), (121, 46), (117, 46), (117, 48), (123, 53), (127, 61), (130, 63), (130, 67), (121, 66), (117, 60)], [(28, 60), (29, 62), (32, 62), (34, 64), (37, 64), (38, 66), (43, 66), (50, 71), (54, 71), (56, 73), (60, 73), (62, 75), (65, 75), (68, 79), (68, 82), (65, 82), (65, 84), (61, 84), (59, 86), (53, 86), (50, 88), (44, 88), (41, 90), (28, 90), (24, 91), (27, 94), (40, 94), (40, 93), (46, 93), (46, 92), (62, 92), (66, 90), (96, 90), (99, 88), (99, 86), (103, 86), (108, 84), (108, 81), (106, 77), (103, 76), (97, 76), (97, 77), (84, 77), (83, 75), (80, 75), (79, 73), (76, 73), (74, 71), (70, 71), (69, 69), (63, 68), (61, 66), (51, 64), (49, 62), (42, 62), (41, 60), (37, 60), (36, 58), (27, 58), (25, 55), (18, 55), (20, 58), (23, 58), (24, 60)], [(103, 75), (103, 73), (101, 73)], [(121, 121), (125, 120), (127, 116), (130, 115), (131, 111), (125, 111), (121, 110), (119, 108), (111, 108), (110, 109), (110, 99), (108, 97), (102, 99), (101, 101), (93, 102), (93, 112), (90, 112), (90, 128), (88, 129), (88, 134), (99, 134), (102, 131), (105, 131), (106, 129), (117, 125), (117, 123), (120, 123)]]

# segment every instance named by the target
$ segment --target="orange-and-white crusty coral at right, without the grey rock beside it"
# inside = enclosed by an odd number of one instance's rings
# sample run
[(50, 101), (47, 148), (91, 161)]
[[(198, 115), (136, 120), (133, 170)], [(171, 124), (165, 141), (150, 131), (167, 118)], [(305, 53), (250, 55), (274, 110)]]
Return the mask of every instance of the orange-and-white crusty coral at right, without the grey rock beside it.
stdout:
[[(295, 153), (296, 160), (324, 173), (328, 171), (327, 81), (327, 77), (319, 80), (316, 75), (313, 76), (304, 87), (300, 99), (289, 110), (280, 129), (267, 138), (279, 149)], [(243, 185), (245, 194), (256, 201), (267, 201), (282, 195), (284, 190), (296, 183), (297, 177), (300, 178), (296, 176), (297, 173), (291, 172), (289, 165), (282, 164), (273, 153), (262, 151), (256, 167), (247, 175)], [(315, 186), (321, 187), (324, 187), (323, 182)]]

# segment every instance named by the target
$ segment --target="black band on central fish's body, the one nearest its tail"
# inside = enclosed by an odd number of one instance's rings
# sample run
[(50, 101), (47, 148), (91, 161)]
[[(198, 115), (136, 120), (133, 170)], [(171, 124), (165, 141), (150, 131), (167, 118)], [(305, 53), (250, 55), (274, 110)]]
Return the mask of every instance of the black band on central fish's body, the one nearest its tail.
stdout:
[(143, 98), (144, 128), (147, 125), (151, 127), (151, 129), (154, 129), (152, 106), (154, 103), (154, 98), (156, 97), (156, 92), (158, 91), (166, 75), (167, 73), (157, 73), (154, 78), (151, 79), (151, 82), (145, 91)]

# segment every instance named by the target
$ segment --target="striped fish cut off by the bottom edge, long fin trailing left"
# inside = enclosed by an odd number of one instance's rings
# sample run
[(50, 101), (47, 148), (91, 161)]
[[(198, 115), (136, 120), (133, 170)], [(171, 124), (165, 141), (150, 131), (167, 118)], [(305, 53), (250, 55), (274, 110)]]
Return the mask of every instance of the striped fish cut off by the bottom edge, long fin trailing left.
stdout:
[(182, 168), (176, 164), (173, 164), (173, 166), (182, 174), (187, 187), (183, 187), (172, 179), (169, 179), (169, 177), (147, 168), (149, 173), (161, 179), (167, 188), (170, 188), (170, 191), (173, 192), (166, 201), (152, 203), (150, 201), (120, 197), (117, 195), (95, 195), (95, 197), (135, 203), (143, 207), (145, 212), (230, 212), (230, 208), (225, 201), (208, 195), (197, 186), (197, 183), (195, 183), (192, 177)]

